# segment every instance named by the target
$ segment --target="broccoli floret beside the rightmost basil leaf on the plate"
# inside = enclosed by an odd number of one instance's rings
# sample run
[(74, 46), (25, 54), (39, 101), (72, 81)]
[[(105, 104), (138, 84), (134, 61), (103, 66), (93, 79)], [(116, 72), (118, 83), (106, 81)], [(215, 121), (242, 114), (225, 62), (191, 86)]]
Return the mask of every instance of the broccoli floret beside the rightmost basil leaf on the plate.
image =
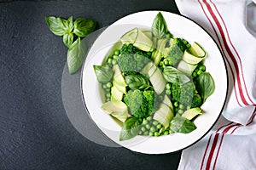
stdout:
[(172, 84), (172, 100), (192, 108), (202, 104), (201, 96), (196, 91), (193, 82)]

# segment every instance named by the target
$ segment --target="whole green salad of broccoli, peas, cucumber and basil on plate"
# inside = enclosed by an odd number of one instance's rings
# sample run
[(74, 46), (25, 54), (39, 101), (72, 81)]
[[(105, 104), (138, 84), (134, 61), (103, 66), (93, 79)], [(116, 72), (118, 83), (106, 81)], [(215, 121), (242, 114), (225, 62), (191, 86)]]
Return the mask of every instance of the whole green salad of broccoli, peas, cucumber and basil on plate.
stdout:
[(120, 37), (102, 65), (94, 65), (105, 93), (101, 109), (122, 126), (119, 140), (194, 131), (215, 88), (206, 57), (199, 42), (172, 35), (160, 12), (151, 29)]

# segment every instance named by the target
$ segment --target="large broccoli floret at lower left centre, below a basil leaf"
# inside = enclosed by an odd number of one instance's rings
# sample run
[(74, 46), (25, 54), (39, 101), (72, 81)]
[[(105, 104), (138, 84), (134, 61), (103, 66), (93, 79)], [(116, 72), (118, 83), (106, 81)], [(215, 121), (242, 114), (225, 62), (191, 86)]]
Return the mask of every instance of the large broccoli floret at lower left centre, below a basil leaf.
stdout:
[(124, 102), (132, 116), (144, 118), (151, 115), (158, 107), (156, 94), (153, 90), (129, 90)]

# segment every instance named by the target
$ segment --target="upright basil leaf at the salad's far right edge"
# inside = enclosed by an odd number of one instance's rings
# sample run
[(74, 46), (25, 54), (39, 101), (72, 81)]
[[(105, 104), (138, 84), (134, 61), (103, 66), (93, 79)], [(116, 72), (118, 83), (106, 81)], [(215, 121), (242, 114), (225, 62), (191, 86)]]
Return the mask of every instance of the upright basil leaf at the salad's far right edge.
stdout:
[(201, 73), (201, 75), (196, 79), (196, 88), (205, 102), (206, 99), (212, 95), (215, 89), (214, 80), (211, 74), (208, 72)]

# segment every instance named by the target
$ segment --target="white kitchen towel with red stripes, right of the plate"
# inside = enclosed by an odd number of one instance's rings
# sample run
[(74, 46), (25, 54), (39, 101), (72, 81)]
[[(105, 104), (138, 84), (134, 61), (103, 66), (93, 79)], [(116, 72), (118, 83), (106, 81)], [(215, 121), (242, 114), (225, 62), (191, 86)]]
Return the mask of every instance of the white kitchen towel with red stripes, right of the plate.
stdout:
[[(256, 0), (176, 0), (217, 42), (229, 77), (222, 116), (179, 169), (256, 169)], [(218, 66), (218, 65), (216, 65)]]

